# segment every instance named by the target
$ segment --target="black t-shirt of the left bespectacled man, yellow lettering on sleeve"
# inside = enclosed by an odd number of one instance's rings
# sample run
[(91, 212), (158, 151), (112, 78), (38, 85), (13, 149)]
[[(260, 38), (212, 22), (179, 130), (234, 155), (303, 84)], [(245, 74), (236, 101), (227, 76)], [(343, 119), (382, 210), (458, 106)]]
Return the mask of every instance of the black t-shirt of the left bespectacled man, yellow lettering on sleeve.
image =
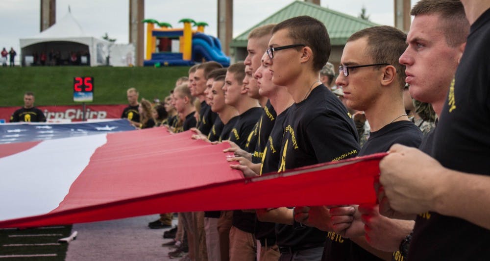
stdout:
[[(284, 122), (278, 171), (354, 157), (359, 151), (357, 130), (347, 109), (324, 85), (289, 109)], [(323, 245), (327, 233), (317, 228), (295, 230), (276, 225), (277, 245)]]

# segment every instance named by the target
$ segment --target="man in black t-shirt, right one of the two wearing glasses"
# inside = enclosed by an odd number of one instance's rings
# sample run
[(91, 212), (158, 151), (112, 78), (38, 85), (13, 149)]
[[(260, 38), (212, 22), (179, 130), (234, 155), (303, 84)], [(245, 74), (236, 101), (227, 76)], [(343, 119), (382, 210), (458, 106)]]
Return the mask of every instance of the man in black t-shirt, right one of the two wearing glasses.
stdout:
[[(375, 26), (354, 33), (343, 49), (336, 84), (343, 88), (347, 106), (364, 111), (370, 123), (369, 139), (361, 148), (359, 156), (385, 152), (394, 143), (417, 147), (422, 141), (422, 133), (408, 119), (403, 103), (405, 70), (398, 63), (398, 58), (406, 48), (405, 39), (406, 35), (394, 27)], [(382, 224), (394, 230), (392, 234), (399, 233), (402, 237), (408, 235), (413, 228), (413, 221), (381, 218), (377, 206), (368, 207), (372, 209), (366, 218), (369, 220), (366, 223), (368, 227)], [(334, 223), (334, 220), (341, 217), (345, 220), (349, 220), (351, 216), (359, 217), (356, 208), (357, 206), (331, 208), (332, 216), (325, 215), (323, 218), (318, 212), (298, 214), (296, 220), (303, 221), (303, 218), (306, 218), (308, 222), (312, 219), (313, 222), (308, 223), (325, 230), (328, 226), (324, 224)], [(354, 213), (339, 215), (343, 210), (354, 211)], [(332, 227), (340, 235), (334, 232), (328, 233), (322, 260), (390, 259), (392, 252), (397, 249), (379, 251), (368, 247), (364, 237), (366, 233), (364, 224), (359, 218), (355, 218), (352, 222), (334, 224)], [(373, 233), (372, 229), (368, 232)], [(378, 230), (374, 231), (377, 232)], [(376, 236), (384, 237), (386, 234)], [(395, 244), (399, 244), (399, 241), (395, 241)]]

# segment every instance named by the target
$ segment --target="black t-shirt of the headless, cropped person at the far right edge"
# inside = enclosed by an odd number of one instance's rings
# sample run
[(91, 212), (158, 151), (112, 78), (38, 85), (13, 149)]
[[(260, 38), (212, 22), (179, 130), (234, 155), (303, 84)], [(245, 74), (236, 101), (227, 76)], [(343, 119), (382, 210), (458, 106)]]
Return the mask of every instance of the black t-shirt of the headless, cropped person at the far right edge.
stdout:
[[(490, 9), (471, 25), (431, 153), (444, 167), (481, 175), (490, 175), (489, 47)], [(409, 260), (489, 260), (490, 230), (433, 212), (419, 217)]]

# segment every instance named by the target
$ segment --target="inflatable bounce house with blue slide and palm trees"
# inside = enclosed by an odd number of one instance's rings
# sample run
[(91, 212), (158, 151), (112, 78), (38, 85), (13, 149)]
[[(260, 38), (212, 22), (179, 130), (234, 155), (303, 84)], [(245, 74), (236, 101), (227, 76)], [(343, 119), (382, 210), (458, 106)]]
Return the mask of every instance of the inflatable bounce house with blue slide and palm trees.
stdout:
[[(172, 28), (168, 23), (153, 19), (142, 23), (147, 24), (144, 66), (191, 66), (207, 61), (216, 61), (224, 67), (230, 65), (230, 57), (221, 51), (220, 40), (204, 33), (206, 23), (182, 19), (179, 23), (184, 23), (184, 28)], [(191, 24), (197, 26), (197, 30), (193, 30)]]

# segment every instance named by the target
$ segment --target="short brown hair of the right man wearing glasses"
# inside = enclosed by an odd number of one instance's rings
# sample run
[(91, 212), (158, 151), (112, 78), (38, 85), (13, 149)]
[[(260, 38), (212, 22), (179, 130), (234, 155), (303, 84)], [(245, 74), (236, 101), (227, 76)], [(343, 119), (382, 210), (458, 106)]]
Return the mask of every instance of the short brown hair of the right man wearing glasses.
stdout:
[[(347, 42), (366, 38), (368, 41), (368, 55), (373, 64), (389, 63), (396, 69), (398, 83), (401, 90), (405, 88), (405, 66), (398, 62), (398, 58), (407, 48), (407, 35), (395, 27), (382, 25), (368, 27), (351, 35)], [(378, 66), (379, 69), (381, 66)]]

